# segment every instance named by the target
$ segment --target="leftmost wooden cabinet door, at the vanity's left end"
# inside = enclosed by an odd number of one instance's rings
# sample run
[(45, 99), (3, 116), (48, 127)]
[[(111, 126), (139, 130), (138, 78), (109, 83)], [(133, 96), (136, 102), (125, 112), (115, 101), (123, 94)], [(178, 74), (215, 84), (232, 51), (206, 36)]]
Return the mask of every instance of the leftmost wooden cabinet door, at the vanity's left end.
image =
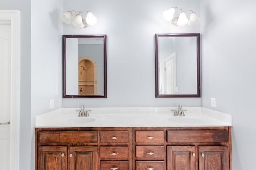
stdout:
[(38, 148), (38, 170), (66, 170), (66, 146), (40, 146)]

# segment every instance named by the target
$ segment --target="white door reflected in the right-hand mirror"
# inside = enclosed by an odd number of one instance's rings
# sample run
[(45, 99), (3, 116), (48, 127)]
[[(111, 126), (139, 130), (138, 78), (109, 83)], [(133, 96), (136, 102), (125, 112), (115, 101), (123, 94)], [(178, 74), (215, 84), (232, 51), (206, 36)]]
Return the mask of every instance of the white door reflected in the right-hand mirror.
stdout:
[(174, 95), (176, 92), (176, 53), (164, 59), (164, 94)]

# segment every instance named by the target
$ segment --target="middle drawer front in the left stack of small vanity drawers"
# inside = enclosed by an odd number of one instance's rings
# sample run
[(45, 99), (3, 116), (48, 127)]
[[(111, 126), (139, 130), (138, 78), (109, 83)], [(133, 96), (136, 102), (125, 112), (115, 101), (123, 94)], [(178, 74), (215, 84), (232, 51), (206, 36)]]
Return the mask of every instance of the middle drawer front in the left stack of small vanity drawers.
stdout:
[(102, 146), (100, 147), (101, 159), (128, 160), (128, 146)]

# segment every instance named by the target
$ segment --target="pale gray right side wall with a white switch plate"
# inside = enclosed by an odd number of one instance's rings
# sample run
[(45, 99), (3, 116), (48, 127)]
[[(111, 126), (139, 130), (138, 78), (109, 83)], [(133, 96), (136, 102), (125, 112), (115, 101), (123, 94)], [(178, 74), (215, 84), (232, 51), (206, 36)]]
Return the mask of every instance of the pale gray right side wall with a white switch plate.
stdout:
[(256, 1), (202, 0), (202, 107), (232, 115), (233, 170), (255, 170)]

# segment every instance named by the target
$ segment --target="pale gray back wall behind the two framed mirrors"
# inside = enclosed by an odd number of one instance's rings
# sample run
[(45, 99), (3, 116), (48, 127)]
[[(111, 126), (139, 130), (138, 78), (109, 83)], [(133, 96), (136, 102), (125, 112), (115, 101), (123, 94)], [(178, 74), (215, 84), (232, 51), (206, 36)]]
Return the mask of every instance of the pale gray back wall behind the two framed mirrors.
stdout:
[(107, 99), (63, 99), (63, 107), (201, 106), (200, 98), (155, 98), (154, 34), (197, 33), (198, 26), (172, 26), (164, 10), (178, 6), (200, 16), (199, 0), (64, 0), (64, 11), (90, 10), (94, 26), (64, 24), (64, 34), (107, 34)]

